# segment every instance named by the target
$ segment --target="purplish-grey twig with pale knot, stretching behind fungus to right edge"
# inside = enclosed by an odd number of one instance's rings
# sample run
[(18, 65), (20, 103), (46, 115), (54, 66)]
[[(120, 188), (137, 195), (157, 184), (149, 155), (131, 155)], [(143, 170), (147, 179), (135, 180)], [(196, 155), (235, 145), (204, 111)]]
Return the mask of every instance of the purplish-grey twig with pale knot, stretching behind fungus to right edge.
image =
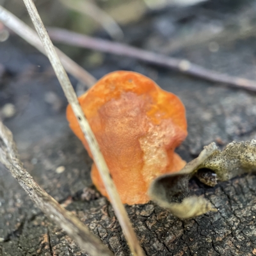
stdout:
[(99, 38), (93, 38), (65, 29), (47, 28), (49, 35), (54, 42), (61, 42), (69, 45), (89, 48), (97, 51), (113, 53), (121, 56), (128, 56), (138, 60), (147, 61), (163, 67), (172, 68), (184, 74), (201, 77), (215, 83), (225, 83), (230, 87), (243, 88), (256, 92), (256, 83), (241, 77), (232, 77), (221, 74), (204, 67), (200, 67), (188, 60), (166, 57), (162, 54), (144, 51), (129, 45), (109, 42)]

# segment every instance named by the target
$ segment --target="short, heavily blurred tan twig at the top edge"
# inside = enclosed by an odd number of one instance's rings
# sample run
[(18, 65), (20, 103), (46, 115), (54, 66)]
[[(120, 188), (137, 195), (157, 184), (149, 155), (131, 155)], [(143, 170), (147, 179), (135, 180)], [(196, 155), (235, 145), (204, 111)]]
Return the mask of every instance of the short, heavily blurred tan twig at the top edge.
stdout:
[(93, 20), (100, 23), (112, 38), (122, 39), (124, 37), (123, 31), (116, 21), (108, 13), (100, 10), (96, 4), (84, 0), (60, 0), (60, 2), (71, 10), (90, 16)]

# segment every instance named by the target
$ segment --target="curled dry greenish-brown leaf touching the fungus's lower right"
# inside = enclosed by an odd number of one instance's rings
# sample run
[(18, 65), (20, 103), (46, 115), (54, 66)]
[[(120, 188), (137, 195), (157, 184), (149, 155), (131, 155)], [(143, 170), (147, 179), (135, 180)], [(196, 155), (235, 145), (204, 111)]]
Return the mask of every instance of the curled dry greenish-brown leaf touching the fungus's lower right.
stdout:
[(233, 141), (223, 151), (211, 143), (178, 173), (165, 174), (152, 182), (148, 194), (161, 207), (178, 218), (199, 216), (216, 211), (205, 198), (188, 196), (188, 181), (193, 175), (208, 186), (256, 170), (256, 140)]

